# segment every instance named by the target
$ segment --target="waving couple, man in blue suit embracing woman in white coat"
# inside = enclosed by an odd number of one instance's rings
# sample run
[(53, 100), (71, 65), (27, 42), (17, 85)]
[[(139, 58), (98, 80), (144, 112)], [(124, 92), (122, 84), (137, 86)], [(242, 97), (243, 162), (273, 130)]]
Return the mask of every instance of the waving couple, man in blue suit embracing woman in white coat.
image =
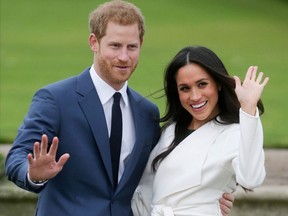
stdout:
[[(9, 180), (39, 193), (38, 216), (218, 214), (218, 201), (227, 215), (236, 183), (253, 188), (265, 176), (258, 101), (268, 79), (262, 82), (263, 74), (251, 67), (241, 84), (209, 49), (183, 49), (167, 68), (168, 109), (159, 140), (158, 108), (127, 85), (145, 32), (139, 8), (107, 2), (89, 23), (93, 65), (36, 92), (6, 158)], [(116, 184), (109, 143), (115, 92), (123, 117)]]

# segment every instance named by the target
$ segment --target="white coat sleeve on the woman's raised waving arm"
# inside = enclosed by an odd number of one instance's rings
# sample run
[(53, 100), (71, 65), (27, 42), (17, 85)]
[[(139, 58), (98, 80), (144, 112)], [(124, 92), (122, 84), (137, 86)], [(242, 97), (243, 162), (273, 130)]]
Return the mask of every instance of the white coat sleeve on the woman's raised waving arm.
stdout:
[(237, 182), (244, 188), (260, 186), (265, 179), (263, 128), (257, 109), (252, 116), (240, 109), (239, 155), (233, 160)]

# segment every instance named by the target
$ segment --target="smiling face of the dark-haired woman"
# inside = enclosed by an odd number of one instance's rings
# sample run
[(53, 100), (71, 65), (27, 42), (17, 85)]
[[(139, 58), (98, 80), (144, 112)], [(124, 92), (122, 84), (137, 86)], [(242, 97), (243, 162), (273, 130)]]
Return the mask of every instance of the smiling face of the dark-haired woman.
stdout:
[(201, 127), (219, 113), (219, 86), (204, 68), (191, 63), (180, 68), (175, 79), (181, 105), (193, 116), (190, 129)]

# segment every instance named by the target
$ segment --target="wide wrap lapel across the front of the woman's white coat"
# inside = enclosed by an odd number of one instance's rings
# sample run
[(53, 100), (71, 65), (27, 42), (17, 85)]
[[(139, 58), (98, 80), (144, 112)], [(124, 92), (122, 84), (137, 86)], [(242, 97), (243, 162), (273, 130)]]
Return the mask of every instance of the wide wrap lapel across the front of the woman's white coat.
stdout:
[(217, 134), (224, 128), (214, 121), (206, 123), (186, 137), (161, 162), (153, 184), (153, 203), (169, 194), (201, 184), (202, 165)]

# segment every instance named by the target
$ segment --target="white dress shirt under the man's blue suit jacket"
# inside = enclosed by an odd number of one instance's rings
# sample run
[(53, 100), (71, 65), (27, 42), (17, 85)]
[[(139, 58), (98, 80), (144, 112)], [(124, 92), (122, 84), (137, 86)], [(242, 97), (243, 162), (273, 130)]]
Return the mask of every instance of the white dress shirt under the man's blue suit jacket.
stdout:
[[(111, 116), (112, 116), (111, 111), (113, 105), (113, 95), (116, 91), (110, 85), (108, 85), (103, 79), (100, 78), (100, 76), (94, 69), (94, 65), (92, 65), (90, 68), (90, 75), (104, 109), (108, 133), (111, 134)], [(136, 140), (133, 115), (127, 95), (127, 86), (128, 82), (126, 81), (125, 85), (118, 91), (122, 95), (120, 101), (120, 107), (123, 118), (123, 133), (122, 133), (122, 145), (121, 145), (121, 154), (119, 162), (118, 182), (122, 177), (122, 174), (125, 170), (125, 164), (129, 159), (129, 156), (132, 152)]]

